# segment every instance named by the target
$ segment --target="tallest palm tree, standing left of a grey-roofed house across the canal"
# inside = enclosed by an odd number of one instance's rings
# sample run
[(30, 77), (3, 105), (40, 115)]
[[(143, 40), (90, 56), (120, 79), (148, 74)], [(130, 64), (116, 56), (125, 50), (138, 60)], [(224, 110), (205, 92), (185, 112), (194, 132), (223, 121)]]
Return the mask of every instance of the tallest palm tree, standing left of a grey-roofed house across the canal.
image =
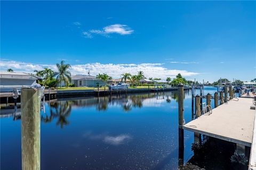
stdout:
[(62, 82), (68, 87), (69, 82), (71, 82), (71, 73), (69, 72), (69, 68), (71, 68), (70, 64), (65, 64), (65, 61), (61, 61), (60, 64), (57, 63), (58, 72), (55, 72), (58, 82), (60, 83), (60, 87), (62, 86)]

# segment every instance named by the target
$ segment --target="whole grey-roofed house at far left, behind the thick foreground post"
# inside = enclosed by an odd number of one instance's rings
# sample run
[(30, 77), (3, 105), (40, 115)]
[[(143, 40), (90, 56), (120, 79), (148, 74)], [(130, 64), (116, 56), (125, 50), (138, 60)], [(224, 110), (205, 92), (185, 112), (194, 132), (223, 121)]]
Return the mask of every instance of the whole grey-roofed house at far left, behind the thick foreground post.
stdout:
[(25, 72), (0, 72), (0, 86), (1, 92), (12, 91), (12, 87), (21, 87), (21, 86), (34, 86), (36, 80), (40, 79), (37, 76), (27, 74)]

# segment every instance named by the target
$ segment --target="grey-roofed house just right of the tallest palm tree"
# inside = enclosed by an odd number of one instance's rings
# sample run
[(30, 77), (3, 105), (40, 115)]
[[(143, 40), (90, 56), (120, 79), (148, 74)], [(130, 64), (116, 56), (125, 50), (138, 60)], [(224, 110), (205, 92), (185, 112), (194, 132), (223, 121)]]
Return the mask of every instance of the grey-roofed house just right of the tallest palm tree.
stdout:
[(71, 84), (76, 87), (97, 87), (98, 84), (103, 86), (106, 83), (91, 75), (75, 75), (71, 77)]

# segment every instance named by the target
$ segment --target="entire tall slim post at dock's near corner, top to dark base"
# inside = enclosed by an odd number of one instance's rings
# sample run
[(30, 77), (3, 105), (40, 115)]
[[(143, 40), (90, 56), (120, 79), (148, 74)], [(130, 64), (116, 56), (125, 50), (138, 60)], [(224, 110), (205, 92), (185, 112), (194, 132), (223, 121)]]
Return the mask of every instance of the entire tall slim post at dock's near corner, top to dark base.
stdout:
[(183, 126), (183, 111), (184, 111), (184, 86), (178, 84), (178, 106), (179, 106), (179, 166), (183, 166), (184, 160), (184, 130)]

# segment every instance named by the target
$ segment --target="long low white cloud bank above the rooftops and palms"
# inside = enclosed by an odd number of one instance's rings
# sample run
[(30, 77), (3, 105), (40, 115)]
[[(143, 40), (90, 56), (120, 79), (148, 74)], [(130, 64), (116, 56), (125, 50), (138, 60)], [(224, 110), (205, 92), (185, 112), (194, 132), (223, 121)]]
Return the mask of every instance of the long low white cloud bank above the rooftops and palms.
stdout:
[[(5, 71), (8, 68), (12, 68), (14, 71), (23, 72), (33, 72), (34, 70), (42, 70), (45, 67), (57, 71), (55, 64), (35, 64), (26, 63), (12, 60), (0, 60), (1, 70)], [(162, 63), (141, 63), (141, 64), (102, 64), (102, 63), (86, 63), (86, 64), (74, 64), (71, 65), (70, 72), (72, 75), (76, 74), (87, 74), (90, 70), (90, 74), (95, 76), (97, 74), (108, 74), (113, 78), (120, 78), (120, 75), (129, 72), (132, 75), (138, 73), (138, 71), (143, 71), (144, 75), (149, 77), (158, 77), (161, 79), (166, 79), (166, 77), (174, 78), (178, 73), (182, 76), (195, 76), (198, 75), (197, 72), (190, 72), (187, 70), (174, 70), (167, 69)]]

